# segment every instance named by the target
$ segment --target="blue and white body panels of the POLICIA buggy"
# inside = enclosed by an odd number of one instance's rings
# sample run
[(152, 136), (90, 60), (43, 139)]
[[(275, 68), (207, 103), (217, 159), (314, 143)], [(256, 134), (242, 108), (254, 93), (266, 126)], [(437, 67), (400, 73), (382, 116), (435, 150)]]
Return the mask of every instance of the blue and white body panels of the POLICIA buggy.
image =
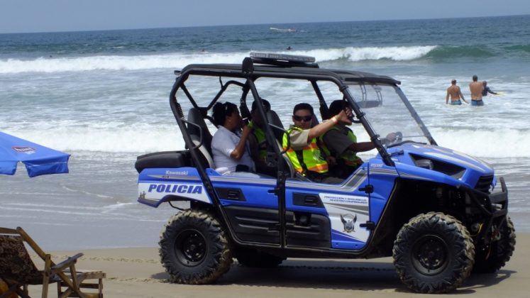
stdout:
[[(371, 221), (377, 226), (380, 223), (382, 212), (398, 177), (473, 188), (480, 177), (494, 175), (492, 167), (485, 162), (434, 145), (404, 143), (388, 148), (388, 153), (392, 155), (395, 167), (385, 165), (380, 155), (377, 155), (361, 165), (343, 184), (287, 180), (287, 211), (326, 216), (331, 226), (331, 248), (361, 250), (368, 243), (371, 231), (361, 228), (360, 224)], [(416, 166), (415, 159), (419, 158), (456, 165), (463, 170), (452, 177)], [(223, 206), (278, 209), (277, 196), (272, 193), (277, 183), (275, 178), (221, 176), (212, 169), (206, 169), (206, 174), (214, 189), (236, 189), (241, 192), (243, 199), (223, 198), (218, 193)], [(367, 194), (364, 191), (367, 185), (373, 187), (373, 192)], [(194, 167), (148, 168), (138, 177), (138, 202), (153, 207), (170, 199), (189, 199), (213, 204), (205, 190)], [(321, 205), (295, 204), (294, 197), (297, 194), (318, 197)]]

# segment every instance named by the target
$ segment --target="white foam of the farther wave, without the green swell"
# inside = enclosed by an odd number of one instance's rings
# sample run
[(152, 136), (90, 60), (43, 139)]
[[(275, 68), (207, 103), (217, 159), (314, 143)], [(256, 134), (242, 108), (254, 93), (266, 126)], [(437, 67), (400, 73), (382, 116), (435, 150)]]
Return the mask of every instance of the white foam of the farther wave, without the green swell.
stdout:
[[(402, 47), (348, 47), (285, 52), (291, 55), (309, 55), (318, 62), (346, 59), (361, 60), (414, 60), (436, 46)], [(258, 51), (258, 49), (256, 49)], [(80, 72), (91, 70), (148, 70), (155, 68), (182, 68), (192, 63), (241, 63), (248, 52), (236, 53), (172, 53), (165, 55), (99, 55), (88, 57), (39, 57), (33, 60), (0, 60), (0, 74), (20, 72)]]

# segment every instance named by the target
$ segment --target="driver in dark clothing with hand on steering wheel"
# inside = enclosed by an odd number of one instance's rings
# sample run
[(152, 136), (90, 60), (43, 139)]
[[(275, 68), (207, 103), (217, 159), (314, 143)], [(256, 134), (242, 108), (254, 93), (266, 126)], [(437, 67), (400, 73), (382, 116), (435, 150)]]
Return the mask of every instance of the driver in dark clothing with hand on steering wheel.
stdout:
[[(344, 100), (336, 100), (329, 105), (329, 114), (337, 115), (341, 111), (351, 114), (351, 108)], [(395, 140), (394, 133), (389, 133), (387, 139)], [(330, 165), (330, 172), (342, 179), (348, 178), (357, 168), (363, 164), (363, 160), (357, 156), (358, 152), (365, 152), (375, 148), (372, 142), (357, 142), (357, 137), (343, 123), (337, 123), (329, 131), (321, 136), (322, 149), (324, 153), (335, 158), (336, 163)]]

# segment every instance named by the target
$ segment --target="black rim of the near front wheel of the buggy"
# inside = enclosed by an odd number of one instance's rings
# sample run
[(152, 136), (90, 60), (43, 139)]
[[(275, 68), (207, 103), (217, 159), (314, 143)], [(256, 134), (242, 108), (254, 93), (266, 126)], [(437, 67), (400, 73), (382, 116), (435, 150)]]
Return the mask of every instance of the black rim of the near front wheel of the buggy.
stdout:
[(423, 275), (436, 275), (447, 267), (448, 246), (436, 235), (421, 236), (412, 246), (412, 264)]

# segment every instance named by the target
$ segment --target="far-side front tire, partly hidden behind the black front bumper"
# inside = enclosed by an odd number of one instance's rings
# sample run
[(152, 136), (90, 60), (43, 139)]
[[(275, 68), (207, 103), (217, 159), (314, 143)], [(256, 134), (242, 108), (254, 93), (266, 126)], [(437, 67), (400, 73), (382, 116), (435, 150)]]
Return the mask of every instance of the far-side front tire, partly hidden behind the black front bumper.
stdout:
[(512, 258), (515, 250), (515, 228), (512, 219), (506, 216), (499, 232), (499, 240), (475, 250), (473, 273), (495, 273)]

